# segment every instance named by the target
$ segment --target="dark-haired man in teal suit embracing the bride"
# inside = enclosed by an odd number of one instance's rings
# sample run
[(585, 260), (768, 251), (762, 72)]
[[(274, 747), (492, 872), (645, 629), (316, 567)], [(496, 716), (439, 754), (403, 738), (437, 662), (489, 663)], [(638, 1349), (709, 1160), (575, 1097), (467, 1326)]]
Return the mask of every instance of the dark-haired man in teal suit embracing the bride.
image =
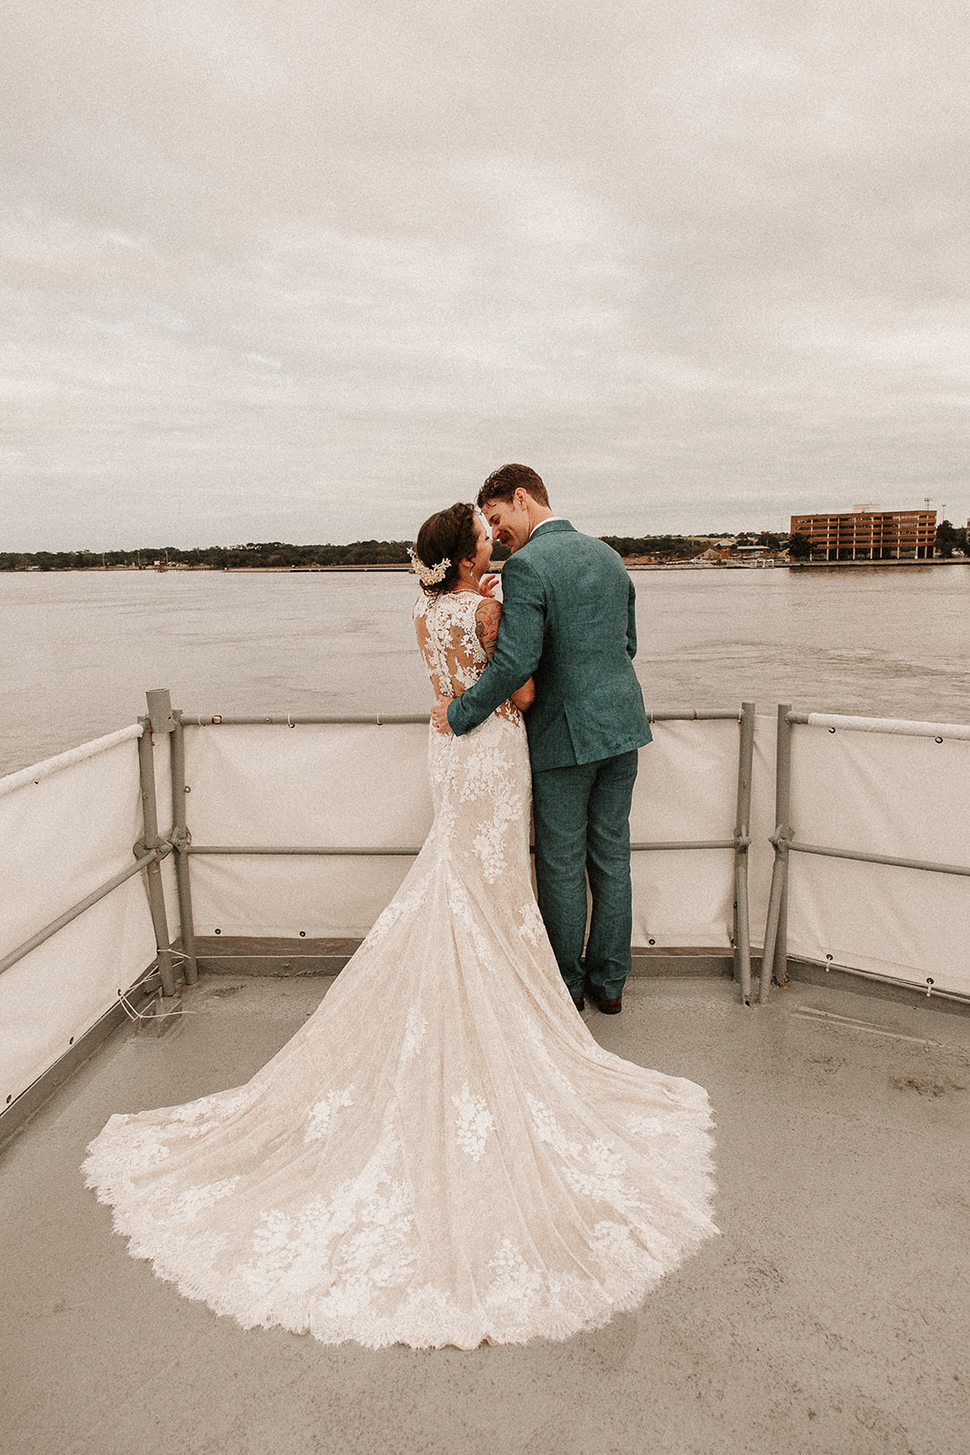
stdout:
[(439, 732), (461, 736), (535, 679), (525, 725), (540, 909), (577, 1010), (586, 992), (615, 1016), (633, 933), (630, 803), (637, 749), (650, 742), (633, 669), (633, 582), (609, 546), (553, 515), (528, 466), (502, 466), (477, 503), (493, 538), (512, 551), (502, 569), (499, 642), (474, 687), (439, 700), (432, 716)]

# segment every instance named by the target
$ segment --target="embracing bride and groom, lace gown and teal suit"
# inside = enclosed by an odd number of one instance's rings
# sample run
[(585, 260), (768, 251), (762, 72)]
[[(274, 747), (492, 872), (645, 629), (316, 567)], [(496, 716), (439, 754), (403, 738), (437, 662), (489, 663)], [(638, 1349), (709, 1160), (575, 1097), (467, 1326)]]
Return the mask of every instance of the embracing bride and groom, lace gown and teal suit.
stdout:
[(246, 1085), (122, 1112), (89, 1148), (131, 1254), (244, 1328), (567, 1339), (636, 1308), (716, 1231), (707, 1093), (609, 1055), (576, 1014), (583, 992), (620, 1010), (630, 968), (649, 741), (633, 586), (531, 470), (506, 466), (480, 501), (512, 547), (502, 611), (471, 505), (416, 543), (435, 819), (398, 892)]

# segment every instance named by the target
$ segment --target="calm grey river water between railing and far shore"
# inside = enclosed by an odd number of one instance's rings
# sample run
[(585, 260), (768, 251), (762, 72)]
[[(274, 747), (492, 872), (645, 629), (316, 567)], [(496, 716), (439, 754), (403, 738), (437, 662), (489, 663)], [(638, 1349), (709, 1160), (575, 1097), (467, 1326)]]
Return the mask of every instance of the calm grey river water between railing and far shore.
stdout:
[[(970, 563), (637, 570), (647, 707), (970, 720)], [(404, 572), (0, 573), (0, 774), (191, 713), (419, 713)]]

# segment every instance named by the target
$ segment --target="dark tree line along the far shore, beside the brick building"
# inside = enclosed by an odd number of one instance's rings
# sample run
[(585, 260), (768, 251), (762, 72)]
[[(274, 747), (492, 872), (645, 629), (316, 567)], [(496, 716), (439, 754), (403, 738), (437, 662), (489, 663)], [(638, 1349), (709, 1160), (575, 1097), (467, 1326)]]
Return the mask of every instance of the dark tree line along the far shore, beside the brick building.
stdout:
[[(811, 544), (801, 535), (743, 531), (707, 535), (601, 535), (628, 565), (710, 562), (730, 565), (750, 556), (777, 560), (811, 560)], [(352, 541), (348, 546), (289, 546), (285, 541), (247, 541), (244, 546), (144, 546), (138, 550), (0, 551), (0, 570), (336, 570), (362, 566), (406, 567), (410, 541)], [(951, 557), (967, 549), (967, 531), (944, 521), (937, 528), (937, 554)], [(505, 547), (493, 560), (505, 560)]]

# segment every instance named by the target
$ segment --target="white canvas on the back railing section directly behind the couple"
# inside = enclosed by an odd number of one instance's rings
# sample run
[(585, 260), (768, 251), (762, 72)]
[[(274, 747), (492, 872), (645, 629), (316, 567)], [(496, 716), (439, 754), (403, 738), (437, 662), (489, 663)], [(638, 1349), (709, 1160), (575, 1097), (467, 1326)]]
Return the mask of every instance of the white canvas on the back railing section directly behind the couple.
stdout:
[[(426, 733), (423, 725), (192, 729), (193, 842), (417, 847), (432, 816)], [(730, 837), (737, 736), (736, 722), (659, 723), (656, 742), (641, 754), (634, 837)], [(637, 943), (646, 943), (647, 931), (668, 944), (730, 943), (730, 851), (637, 858), (644, 864), (634, 893), (649, 906), (637, 917), (644, 936), (634, 936)], [(409, 863), (192, 856), (196, 933), (362, 936)], [(684, 927), (678, 940), (669, 938), (673, 925)]]

